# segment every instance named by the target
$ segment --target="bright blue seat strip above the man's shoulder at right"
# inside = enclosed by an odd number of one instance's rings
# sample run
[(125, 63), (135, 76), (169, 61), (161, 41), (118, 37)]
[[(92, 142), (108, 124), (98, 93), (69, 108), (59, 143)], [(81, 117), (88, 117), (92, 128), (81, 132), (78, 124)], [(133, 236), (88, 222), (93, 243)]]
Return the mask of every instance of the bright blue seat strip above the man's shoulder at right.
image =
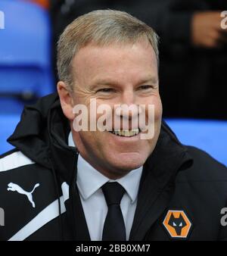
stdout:
[(179, 141), (207, 151), (227, 166), (227, 121), (166, 119)]

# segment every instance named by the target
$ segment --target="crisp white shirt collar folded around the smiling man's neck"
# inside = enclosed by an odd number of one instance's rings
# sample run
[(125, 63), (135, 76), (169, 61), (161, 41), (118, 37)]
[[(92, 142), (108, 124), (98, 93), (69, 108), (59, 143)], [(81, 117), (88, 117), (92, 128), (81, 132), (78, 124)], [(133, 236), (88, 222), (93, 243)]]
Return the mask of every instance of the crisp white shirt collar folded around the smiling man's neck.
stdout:
[[(73, 142), (72, 133), (69, 135), (68, 145), (75, 146)], [(77, 186), (79, 193), (84, 200), (93, 195), (104, 183), (118, 182), (126, 190), (132, 204), (135, 202), (138, 195), (138, 187), (141, 179), (142, 168), (139, 167), (131, 170), (126, 176), (117, 180), (110, 180), (107, 176), (95, 170), (81, 155), (78, 156), (77, 161)]]

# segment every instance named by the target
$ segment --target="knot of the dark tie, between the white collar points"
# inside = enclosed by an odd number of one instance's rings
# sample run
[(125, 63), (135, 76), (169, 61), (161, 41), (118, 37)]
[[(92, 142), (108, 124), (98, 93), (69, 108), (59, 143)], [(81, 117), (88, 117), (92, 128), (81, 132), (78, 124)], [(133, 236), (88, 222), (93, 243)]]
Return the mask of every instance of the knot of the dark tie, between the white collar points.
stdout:
[(104, 193), (108, 206), (111, 204), (120, 204), (120, 201), (126, 192), (123, 186), (119, 183), (105, 183), (101, 189)]

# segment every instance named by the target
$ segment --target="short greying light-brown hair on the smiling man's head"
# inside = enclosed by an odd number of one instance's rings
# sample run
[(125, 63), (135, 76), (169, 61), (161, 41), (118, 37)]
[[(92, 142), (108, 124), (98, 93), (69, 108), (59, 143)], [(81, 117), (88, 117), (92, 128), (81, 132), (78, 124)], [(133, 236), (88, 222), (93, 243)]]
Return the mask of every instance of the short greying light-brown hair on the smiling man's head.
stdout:
[(91, 11), (73, 20), (58, 40), (58, 78), (73, 89), (72, 61), (86, 45), (134, 44), (148, 41), (158, 62), (158, 36), (147, 24), (124, 11)]

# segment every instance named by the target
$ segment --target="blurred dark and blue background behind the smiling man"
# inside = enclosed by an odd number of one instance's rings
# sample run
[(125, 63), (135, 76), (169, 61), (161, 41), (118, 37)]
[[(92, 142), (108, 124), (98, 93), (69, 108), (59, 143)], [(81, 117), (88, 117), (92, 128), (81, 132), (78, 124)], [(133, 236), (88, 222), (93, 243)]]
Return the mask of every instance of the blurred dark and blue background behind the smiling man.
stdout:
[(0, 0), (0, 154), (12, 148), (6, 139), (23, 106), (55, 91), (56, 43), (64, 28), (106, 8), (156, 30), (164, 119), (183, 144), (227, 165), (226, 0)]

